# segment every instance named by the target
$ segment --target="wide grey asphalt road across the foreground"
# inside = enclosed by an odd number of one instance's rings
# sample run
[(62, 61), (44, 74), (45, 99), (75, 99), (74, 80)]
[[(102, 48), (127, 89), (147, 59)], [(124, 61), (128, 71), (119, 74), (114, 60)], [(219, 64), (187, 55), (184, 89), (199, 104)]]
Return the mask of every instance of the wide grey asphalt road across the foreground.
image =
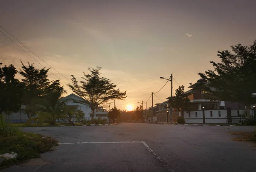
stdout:
[[(256, 147), (249, 142), (232, 141), (236, 136), (229, 134), (253, 130), (254, 127), (140, 123), (30, 127), (24, 131), (50, 135), (66, 144), (42, 158), (2, 171), (255, 172)], [(83, 143), (73, 144), (77, 142)]]

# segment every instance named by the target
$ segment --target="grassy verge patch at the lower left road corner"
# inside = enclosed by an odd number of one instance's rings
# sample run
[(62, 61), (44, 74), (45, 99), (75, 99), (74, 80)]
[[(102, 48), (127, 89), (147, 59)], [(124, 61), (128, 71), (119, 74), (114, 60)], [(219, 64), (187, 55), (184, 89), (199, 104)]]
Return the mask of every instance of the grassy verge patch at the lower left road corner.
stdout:
[(17, 158), (5, 159), (0, 164), (0, 169), (29, 158), (40, 157), (41, 153), (52, 151), (55, 146), (58, 146), (58, 141), (54, 138), (35, 133), (20, 132), (12, 137), (1, 136), (0, 153), (15, 152), (17, 153)]

